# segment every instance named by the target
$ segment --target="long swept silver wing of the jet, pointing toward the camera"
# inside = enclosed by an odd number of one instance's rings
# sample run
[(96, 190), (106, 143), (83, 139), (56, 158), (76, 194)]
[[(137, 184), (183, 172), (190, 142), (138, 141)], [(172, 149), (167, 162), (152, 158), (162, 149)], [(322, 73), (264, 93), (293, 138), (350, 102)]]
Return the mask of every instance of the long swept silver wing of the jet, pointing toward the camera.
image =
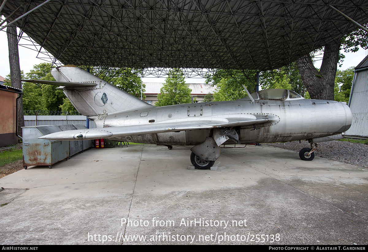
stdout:
[(250, 118), (227, 118), (219, 120), (193, 120), (186, 122), (166, 122), (146, 125), (131, 125), (119, 127), (105, 127), (86, 130), (67, 130), (63, 132), (51, 133), (39, 138), (49, 140), (90, 140), (98, 138), (113, 138), (137, 136), (143, 134), (177, 132), (182, 130), (212, 129), (229, 126), (245, 126), (265, 123), (269, 119), (265, 117)]

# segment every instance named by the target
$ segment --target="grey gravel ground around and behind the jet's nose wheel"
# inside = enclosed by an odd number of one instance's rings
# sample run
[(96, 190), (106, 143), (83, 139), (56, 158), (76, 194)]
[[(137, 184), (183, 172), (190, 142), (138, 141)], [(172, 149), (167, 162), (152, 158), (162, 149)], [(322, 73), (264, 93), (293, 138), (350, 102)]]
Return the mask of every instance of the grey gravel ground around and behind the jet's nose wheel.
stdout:
[[(301, 143), (299, 143), (299, 141), (271, 143), (268, 145), (297, 152), (302, 148), (311, 147), (307, 141), (301, 141)], [(321, 158), (327, 158), (368, 169), (368, 145), (366, 144), (346, 141), (329, 141), (318, 143), (317, 150), (314, 153)]]

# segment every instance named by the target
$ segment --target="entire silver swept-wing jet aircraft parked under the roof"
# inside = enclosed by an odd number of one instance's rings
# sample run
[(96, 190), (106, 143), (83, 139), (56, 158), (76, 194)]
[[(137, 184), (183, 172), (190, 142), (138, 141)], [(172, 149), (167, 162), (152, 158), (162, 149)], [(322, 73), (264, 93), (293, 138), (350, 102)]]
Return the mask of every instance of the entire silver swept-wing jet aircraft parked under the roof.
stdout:
[[(308, 100), (286, 89), (269, 89), (236, 101), (202, 102), (155, 107), (76, 66), (52, 70), (56, 82), (23, 80), (61, 86), (82, 115), (98, 128), (45, 135), (49, 140), (115, 141), (194, 145), (191, 163), (209, 169), (221, 144), (255, 144), (308, 140), (302, 160), (314, 158), (316, 143), (337, 140), (349, 129), (350, 108), (342, 102)], [(312, 144), (315, 144), (314, 146)]]

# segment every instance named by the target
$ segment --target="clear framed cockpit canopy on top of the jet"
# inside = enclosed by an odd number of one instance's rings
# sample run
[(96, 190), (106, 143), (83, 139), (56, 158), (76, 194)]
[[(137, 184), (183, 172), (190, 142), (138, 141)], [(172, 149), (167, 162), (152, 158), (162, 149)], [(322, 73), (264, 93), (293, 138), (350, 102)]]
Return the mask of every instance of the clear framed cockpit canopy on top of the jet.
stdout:
[[(252, 93), (254, 100), (291, 100), (304, 99), (301, 95), (288, 89), (265, 89)], [(240, 100), (250, 100), (249, 96), (241, 98)]]

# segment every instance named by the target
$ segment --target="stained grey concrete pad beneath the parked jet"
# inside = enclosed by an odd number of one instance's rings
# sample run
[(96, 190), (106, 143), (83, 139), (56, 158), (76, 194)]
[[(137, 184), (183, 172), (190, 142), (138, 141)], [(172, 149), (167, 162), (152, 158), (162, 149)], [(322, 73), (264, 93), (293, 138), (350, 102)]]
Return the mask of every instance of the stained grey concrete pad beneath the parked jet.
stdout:
[(187, 147), (92, 149), (3, 177), (1, 244), (368, 243), (367, 169), (221, 152), (217, 170), (188, 170)]

